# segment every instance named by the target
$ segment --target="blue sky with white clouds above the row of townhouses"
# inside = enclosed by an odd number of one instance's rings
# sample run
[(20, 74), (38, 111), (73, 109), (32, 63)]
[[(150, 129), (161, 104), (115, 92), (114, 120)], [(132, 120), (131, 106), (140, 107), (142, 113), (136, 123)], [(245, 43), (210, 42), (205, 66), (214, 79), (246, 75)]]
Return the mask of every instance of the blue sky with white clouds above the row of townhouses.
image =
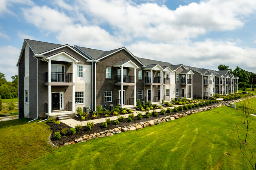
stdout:
[(0, 72), (24, 38), (256, 73), (256, 0), (0, 0)]

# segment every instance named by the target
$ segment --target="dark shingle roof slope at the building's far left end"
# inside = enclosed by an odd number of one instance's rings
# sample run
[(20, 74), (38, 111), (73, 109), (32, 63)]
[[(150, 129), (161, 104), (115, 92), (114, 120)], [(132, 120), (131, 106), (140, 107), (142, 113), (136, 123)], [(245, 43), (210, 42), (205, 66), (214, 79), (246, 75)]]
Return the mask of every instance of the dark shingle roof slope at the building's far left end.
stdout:
[(35, 41), (35, 40), (29, 40), (25, 39), (28, 45), (32, 48), (35, 54), (40, 54), (45, 51), (49, 51), (54, 48), (61, 47), (63, 45), (61, 44), (53, 44), (48, 42), (41, 42), (41, 41)]

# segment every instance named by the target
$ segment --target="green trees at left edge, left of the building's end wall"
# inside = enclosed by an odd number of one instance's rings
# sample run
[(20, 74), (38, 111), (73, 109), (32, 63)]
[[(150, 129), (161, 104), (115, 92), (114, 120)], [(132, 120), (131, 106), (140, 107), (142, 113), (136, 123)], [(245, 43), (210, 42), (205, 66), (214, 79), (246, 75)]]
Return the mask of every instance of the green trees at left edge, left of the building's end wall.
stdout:
[(0, 72), (0, 95), (2, 99), (18, 98), (18, 75), (12, 76), (8, 81), (6, 76)]

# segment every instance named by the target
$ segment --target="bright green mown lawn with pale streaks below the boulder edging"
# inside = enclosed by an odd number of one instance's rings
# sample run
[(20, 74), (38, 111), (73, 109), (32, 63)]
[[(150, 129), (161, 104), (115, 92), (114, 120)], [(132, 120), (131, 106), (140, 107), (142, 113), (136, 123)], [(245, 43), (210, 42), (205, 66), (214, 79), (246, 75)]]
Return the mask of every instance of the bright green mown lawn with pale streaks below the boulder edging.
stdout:
[[(141, 130), (61, 147), (22, 169), (242, 170), (239, 110), (222, 106)], [(240, 132), (243, 139), (245, 133)], [(248, 140), (250, 143), (250, 139)], [(226, 153), (230, 154), (227, 156)]]

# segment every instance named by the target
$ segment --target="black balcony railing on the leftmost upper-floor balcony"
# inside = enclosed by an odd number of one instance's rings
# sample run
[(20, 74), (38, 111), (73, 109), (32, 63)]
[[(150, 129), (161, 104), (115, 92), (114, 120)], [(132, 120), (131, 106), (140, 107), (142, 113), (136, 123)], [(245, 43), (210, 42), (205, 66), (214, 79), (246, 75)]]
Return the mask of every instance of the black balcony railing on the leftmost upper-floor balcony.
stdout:
[[(51, 72), (51, 82), (73, 82), (73, 73)], [(48, 82), (48, 72), (45, 73), (45, 82)]]

